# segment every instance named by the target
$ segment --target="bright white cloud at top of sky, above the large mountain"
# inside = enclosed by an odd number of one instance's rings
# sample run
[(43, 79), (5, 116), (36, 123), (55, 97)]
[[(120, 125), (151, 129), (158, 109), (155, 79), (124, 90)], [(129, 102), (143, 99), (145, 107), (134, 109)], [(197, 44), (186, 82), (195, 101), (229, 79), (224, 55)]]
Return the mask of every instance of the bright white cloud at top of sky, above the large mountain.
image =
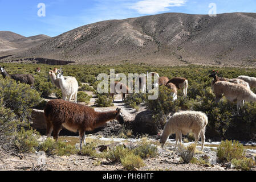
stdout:
[(140, 14), (156, 14), (168, 11), (168, 7), (184, 6), (186, 0), (143, 0), (136, 2), (129, 9), (136, 10)]

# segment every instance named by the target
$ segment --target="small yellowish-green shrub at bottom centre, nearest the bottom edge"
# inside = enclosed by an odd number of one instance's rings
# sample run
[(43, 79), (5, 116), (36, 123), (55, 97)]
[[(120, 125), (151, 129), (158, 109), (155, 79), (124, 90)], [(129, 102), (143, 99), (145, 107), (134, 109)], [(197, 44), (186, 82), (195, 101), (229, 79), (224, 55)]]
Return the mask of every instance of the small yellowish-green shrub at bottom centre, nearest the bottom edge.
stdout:
[(130, 171), (135, 170), (135, 168), (139, 169), (140, 167), (145, 166), (140, 156), (135, 154), (126, 155), (124, 158), (121, 159), (121, 164), (124, 167), (124, 169)]

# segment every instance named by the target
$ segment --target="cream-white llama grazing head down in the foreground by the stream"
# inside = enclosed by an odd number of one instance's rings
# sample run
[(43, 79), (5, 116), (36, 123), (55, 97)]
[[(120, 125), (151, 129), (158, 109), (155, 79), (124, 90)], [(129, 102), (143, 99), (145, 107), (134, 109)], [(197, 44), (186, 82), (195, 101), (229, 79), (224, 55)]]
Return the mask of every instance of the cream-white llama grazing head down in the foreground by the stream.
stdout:
[(208, 124), (208, 117), (205, 113), (200, 111), (180, 111), (173, 114), (166, 122), (164, 131), (160, 137), (160, 143), (164, 146), (170, 134), (176, 135), (176, 145), (178, 140), (182, 143), (182, 134), (186, 135), (189, 131), (194, 134), (195, 143), (198, 142), (199, 137), (202, 140), (201, 150), (204, 150), (205, 143), (205, 128)]

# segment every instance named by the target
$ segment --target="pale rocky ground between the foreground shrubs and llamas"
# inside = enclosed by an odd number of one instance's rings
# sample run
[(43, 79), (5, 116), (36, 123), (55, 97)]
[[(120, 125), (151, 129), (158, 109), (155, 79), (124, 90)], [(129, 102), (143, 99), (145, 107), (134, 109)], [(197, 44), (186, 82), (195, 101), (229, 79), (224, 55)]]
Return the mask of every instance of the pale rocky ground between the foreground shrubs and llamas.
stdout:
[[(87, 92), (92, 94), (91, 92)], [(104, 108), (95, 108), (97, 111), (106, 111), (116, 109), (116, 107), (121, 108), (122, 113), (125, 115), (126, 119), (133, 121), (137, 113), (145, 111), (145, 107), (141, 106), (139, 110), (131, 109), (131, 107), (125, 106), (121, 102), (121, 96), (115, 96), (115, 106), (104, 107)], [(93, 106), (95, 98), (91, 99), (90, 106)], [(105, 143), (119, 142), (120, 144), (124, 143), (134, 143), (138, 139), (117, 139), (117, 138), (104, 138), (107, 137), (110, 132), (115, 130), (115, 123), (109, 122), (108, 127), (100, 129), (97, 133), (87, 135), (87, 142), (91, 139), (99, 139), (105, 141)], [(101, 135), (101, 136), (99, 136)], [(46, 139), (46, 136), (42, 136), (42, 140)], [(73, 142), (77, 143), (78, 146), (78, 137), (60, 137), (64, 142)], [(72, 141), (71, 141), (72, 140)], [(235, 170), (230, 163), (218, 164), (216, 160), (216, 152), (213, 148), (216, 149), (216, 144), (212, 142), (206, 142), (206, 147), (203, 152), (199, 152), (200, 144), (198, 144), (198, 152), (196, 154), (197, 159), (207, 159), (209, 164), (183, 164), (180, 162), (180, 156), (178, 156), (174, 140), (168, 139), (165, 147), (160, 147), (159, 139), (157, 136), (150, 139), (153, 144), (156, 144), (158, 148), (159, 155), (156, 158), (145, 159), (145, 166), (141, 167), (141, 171), (159, 171), (159, 170), (171, 170), (171, 171), (224, 171), (224, 170)], [(111, 142), (110, 142), (111, 143)], [(189, 144), (189, 143), (185, 143)], [(215, 147), (210, 147), (213, 144)], [(251, 144), (253, 145), (253, 144)], [(256, 154), (256, 150), (247, 150), (246, 155), (253, 157)], [(116, 171), (124, 170), (120, 163), (111, 163), (106, 159), (97, 159), (88, 156), (82, 155), (71, 155), (71, 156), (46, 156), (44, 158), (46, 164), (43, 166), (38, 166), (38, 159), (40, 155), (35, 152), (34, 154), (14, 154), (11, 152), (6, 152), (0, 148), (0, 170), (50, 170), (50, 171)], [(256, 170), (255, 168), (253, 170)]]

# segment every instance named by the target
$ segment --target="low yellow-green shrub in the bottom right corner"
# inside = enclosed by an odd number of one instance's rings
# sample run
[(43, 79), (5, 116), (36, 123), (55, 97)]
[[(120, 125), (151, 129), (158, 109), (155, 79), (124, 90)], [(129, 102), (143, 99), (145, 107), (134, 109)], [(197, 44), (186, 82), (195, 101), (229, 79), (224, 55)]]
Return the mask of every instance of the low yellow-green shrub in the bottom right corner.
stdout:
[(231, 163), (235, 168), (242, 169), (243, 171), (249, 171), (252, 167), (256, 166), (256, 163), (251, 158), (232, 159)]

